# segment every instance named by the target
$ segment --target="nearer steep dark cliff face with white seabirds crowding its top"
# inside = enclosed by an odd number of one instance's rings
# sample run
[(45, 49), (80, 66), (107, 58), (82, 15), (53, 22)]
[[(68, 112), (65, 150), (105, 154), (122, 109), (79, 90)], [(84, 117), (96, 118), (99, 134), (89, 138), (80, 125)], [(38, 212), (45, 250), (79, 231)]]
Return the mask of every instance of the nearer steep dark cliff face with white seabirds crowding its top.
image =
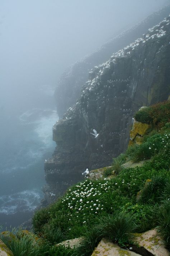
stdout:
[(134, 113), (169, 91), (170, 17), (89, 73), (77, 103), (53, 126), (57, 147), (44, 166), (49, 190), (58, 196), (86, 168), (108, 166), (127, 148)]

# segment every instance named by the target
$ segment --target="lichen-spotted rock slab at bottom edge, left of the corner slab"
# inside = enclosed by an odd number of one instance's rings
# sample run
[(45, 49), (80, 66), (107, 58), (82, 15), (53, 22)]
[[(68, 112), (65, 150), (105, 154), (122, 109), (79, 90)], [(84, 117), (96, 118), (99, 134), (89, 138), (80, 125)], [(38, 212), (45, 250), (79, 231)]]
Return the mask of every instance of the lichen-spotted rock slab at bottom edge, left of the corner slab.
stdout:
[(103, 238), (93, 251), (91, 256), (138, 256), (135, 252), (125, 250), (117, 244), (112, 243), (109, 239)]

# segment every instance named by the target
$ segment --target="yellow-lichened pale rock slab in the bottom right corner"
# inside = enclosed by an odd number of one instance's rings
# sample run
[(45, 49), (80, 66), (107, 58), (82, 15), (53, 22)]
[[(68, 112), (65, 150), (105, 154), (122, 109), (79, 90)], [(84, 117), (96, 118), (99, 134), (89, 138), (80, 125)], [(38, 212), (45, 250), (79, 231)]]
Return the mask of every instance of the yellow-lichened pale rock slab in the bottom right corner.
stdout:
[(156, 232), (156, 229), (146, 231), (142, 234), (134, 234), (134, 242), (143, 246), (155, 256), (169, 256), (170, 252), (165, 248), (164, 241)]

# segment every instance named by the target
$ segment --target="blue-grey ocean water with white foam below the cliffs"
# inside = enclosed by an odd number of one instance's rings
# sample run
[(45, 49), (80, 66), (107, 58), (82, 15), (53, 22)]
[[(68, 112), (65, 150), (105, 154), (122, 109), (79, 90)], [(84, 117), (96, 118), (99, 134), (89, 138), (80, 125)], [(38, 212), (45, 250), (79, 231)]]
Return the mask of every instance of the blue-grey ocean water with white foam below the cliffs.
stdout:
[[(49, 97), (48, 97), (49, 100)], [(43, 198), (44, 160), (55, 149), (53, 104), (24, 111), (0, 109), (0, 226), (3, 230), (32, 217)]]

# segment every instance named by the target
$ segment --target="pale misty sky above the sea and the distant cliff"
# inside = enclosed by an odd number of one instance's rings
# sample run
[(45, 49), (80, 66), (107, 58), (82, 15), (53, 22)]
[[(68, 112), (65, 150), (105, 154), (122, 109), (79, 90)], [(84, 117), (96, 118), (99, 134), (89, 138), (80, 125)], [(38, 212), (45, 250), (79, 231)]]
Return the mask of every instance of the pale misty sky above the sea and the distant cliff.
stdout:
[(0, 107), (38, 106), (67, 66), (167, 2), (0, 0)]

